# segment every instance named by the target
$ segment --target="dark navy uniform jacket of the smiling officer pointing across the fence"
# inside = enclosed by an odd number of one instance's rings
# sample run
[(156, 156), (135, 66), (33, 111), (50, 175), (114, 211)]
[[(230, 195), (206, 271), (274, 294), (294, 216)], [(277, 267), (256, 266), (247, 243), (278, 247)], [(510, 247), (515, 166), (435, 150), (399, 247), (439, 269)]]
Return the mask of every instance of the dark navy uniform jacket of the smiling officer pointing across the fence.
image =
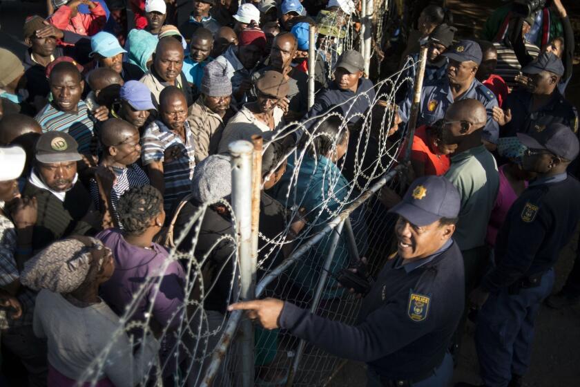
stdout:
[(280, 328), (339, 357), (365, 361), (383, 377), (412, 379), (441, 363), (464, 302), (463, 258), (450, 240), (425, 259), (387, 261), (357, 325), (284, 303)]

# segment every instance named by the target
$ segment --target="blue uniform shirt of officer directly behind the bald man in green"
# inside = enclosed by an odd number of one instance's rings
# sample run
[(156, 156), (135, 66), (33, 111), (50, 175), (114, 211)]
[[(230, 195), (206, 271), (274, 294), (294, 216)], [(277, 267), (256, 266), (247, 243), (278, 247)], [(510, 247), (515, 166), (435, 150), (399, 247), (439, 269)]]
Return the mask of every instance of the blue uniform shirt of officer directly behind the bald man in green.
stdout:
[[(407, 99), (400, 105), (399, 113), (401, 120), (407, 122), (409, 120), (409, 115), (411, 113), (413, 93), (409, 92)], [(458, 98), (459, 100), (465, 100), (466, 98), (472, 98), (478, 100), (485, 106), (485, 111), (487, 111), (487, 123), (483, 128), (483, 140), (497, 142), (499, 137), (499, 126), (493, 118), (493, 108), (494, 106), (499, 106), (497, 99), (490, 91), (489, 88), (485, 87), (477, 79), (474, 79), (470, 88), (467, 89), (463, 95)], [(437, 120), (440, 120), (445, 116), (447, 108), (454, 102), (453, 95), (451, 93), (451, 86), (449, 84), (449, 79), (447, 77), (439, 79), (436, 82), (425, 84), (423, 90), (421, 91), (421, 102), (419, 104), (419, 116), (417, 120), (417, 126), (421, 125), (432, 125)]]

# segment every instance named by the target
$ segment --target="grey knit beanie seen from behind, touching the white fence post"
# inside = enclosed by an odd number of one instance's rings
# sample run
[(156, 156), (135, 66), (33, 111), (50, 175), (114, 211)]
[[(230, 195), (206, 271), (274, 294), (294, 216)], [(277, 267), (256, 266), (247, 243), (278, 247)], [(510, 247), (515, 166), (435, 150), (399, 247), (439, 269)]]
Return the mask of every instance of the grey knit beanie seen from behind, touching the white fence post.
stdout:
[(198, 202), (215, 202), (231, 195), (231, 163), (229, 155), (210, 155), (193, 171), (191, 193)]

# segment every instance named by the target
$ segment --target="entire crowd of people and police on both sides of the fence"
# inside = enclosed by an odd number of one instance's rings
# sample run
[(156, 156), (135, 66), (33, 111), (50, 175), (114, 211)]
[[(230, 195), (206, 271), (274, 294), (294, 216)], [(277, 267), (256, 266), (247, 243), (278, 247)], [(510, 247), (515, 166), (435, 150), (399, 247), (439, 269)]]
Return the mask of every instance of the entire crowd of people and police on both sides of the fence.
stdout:
[[(243, 309), (268, 343), (260, 386), (286, 384), (268, 367), (280, 332), (365, 361), (367, 386), (449, 386), (467, 319), (482, 386), (522, 386), (541, 303), (580, 301), (580, 258), (550, 296), (580, 219), (572, 25), (561, 0), (510, 2), (460, 37), (438, 1), (418, 3), (397, 89), (365, 73), (351, 0), (50, 0), (48, 17), (27, 17), (26, 50), (0, 48), (0, 384), (196, 386)], [(284, 238), (260, 251), (258, 278), (376, 182), (377, 164), (397, 160), (403, 190), (357, 213), (361, 234), (385, 236), (358, 246), (370, 255), (325, 236), (269, 288), (278, 299), (236, 303), (230, 146), (257, 137), (259, 245)], [(310, 312), (323, 271), (329, 308), (364, 297), (356, 325)], [(176, 333), (200, 316), (203, 346)]]

